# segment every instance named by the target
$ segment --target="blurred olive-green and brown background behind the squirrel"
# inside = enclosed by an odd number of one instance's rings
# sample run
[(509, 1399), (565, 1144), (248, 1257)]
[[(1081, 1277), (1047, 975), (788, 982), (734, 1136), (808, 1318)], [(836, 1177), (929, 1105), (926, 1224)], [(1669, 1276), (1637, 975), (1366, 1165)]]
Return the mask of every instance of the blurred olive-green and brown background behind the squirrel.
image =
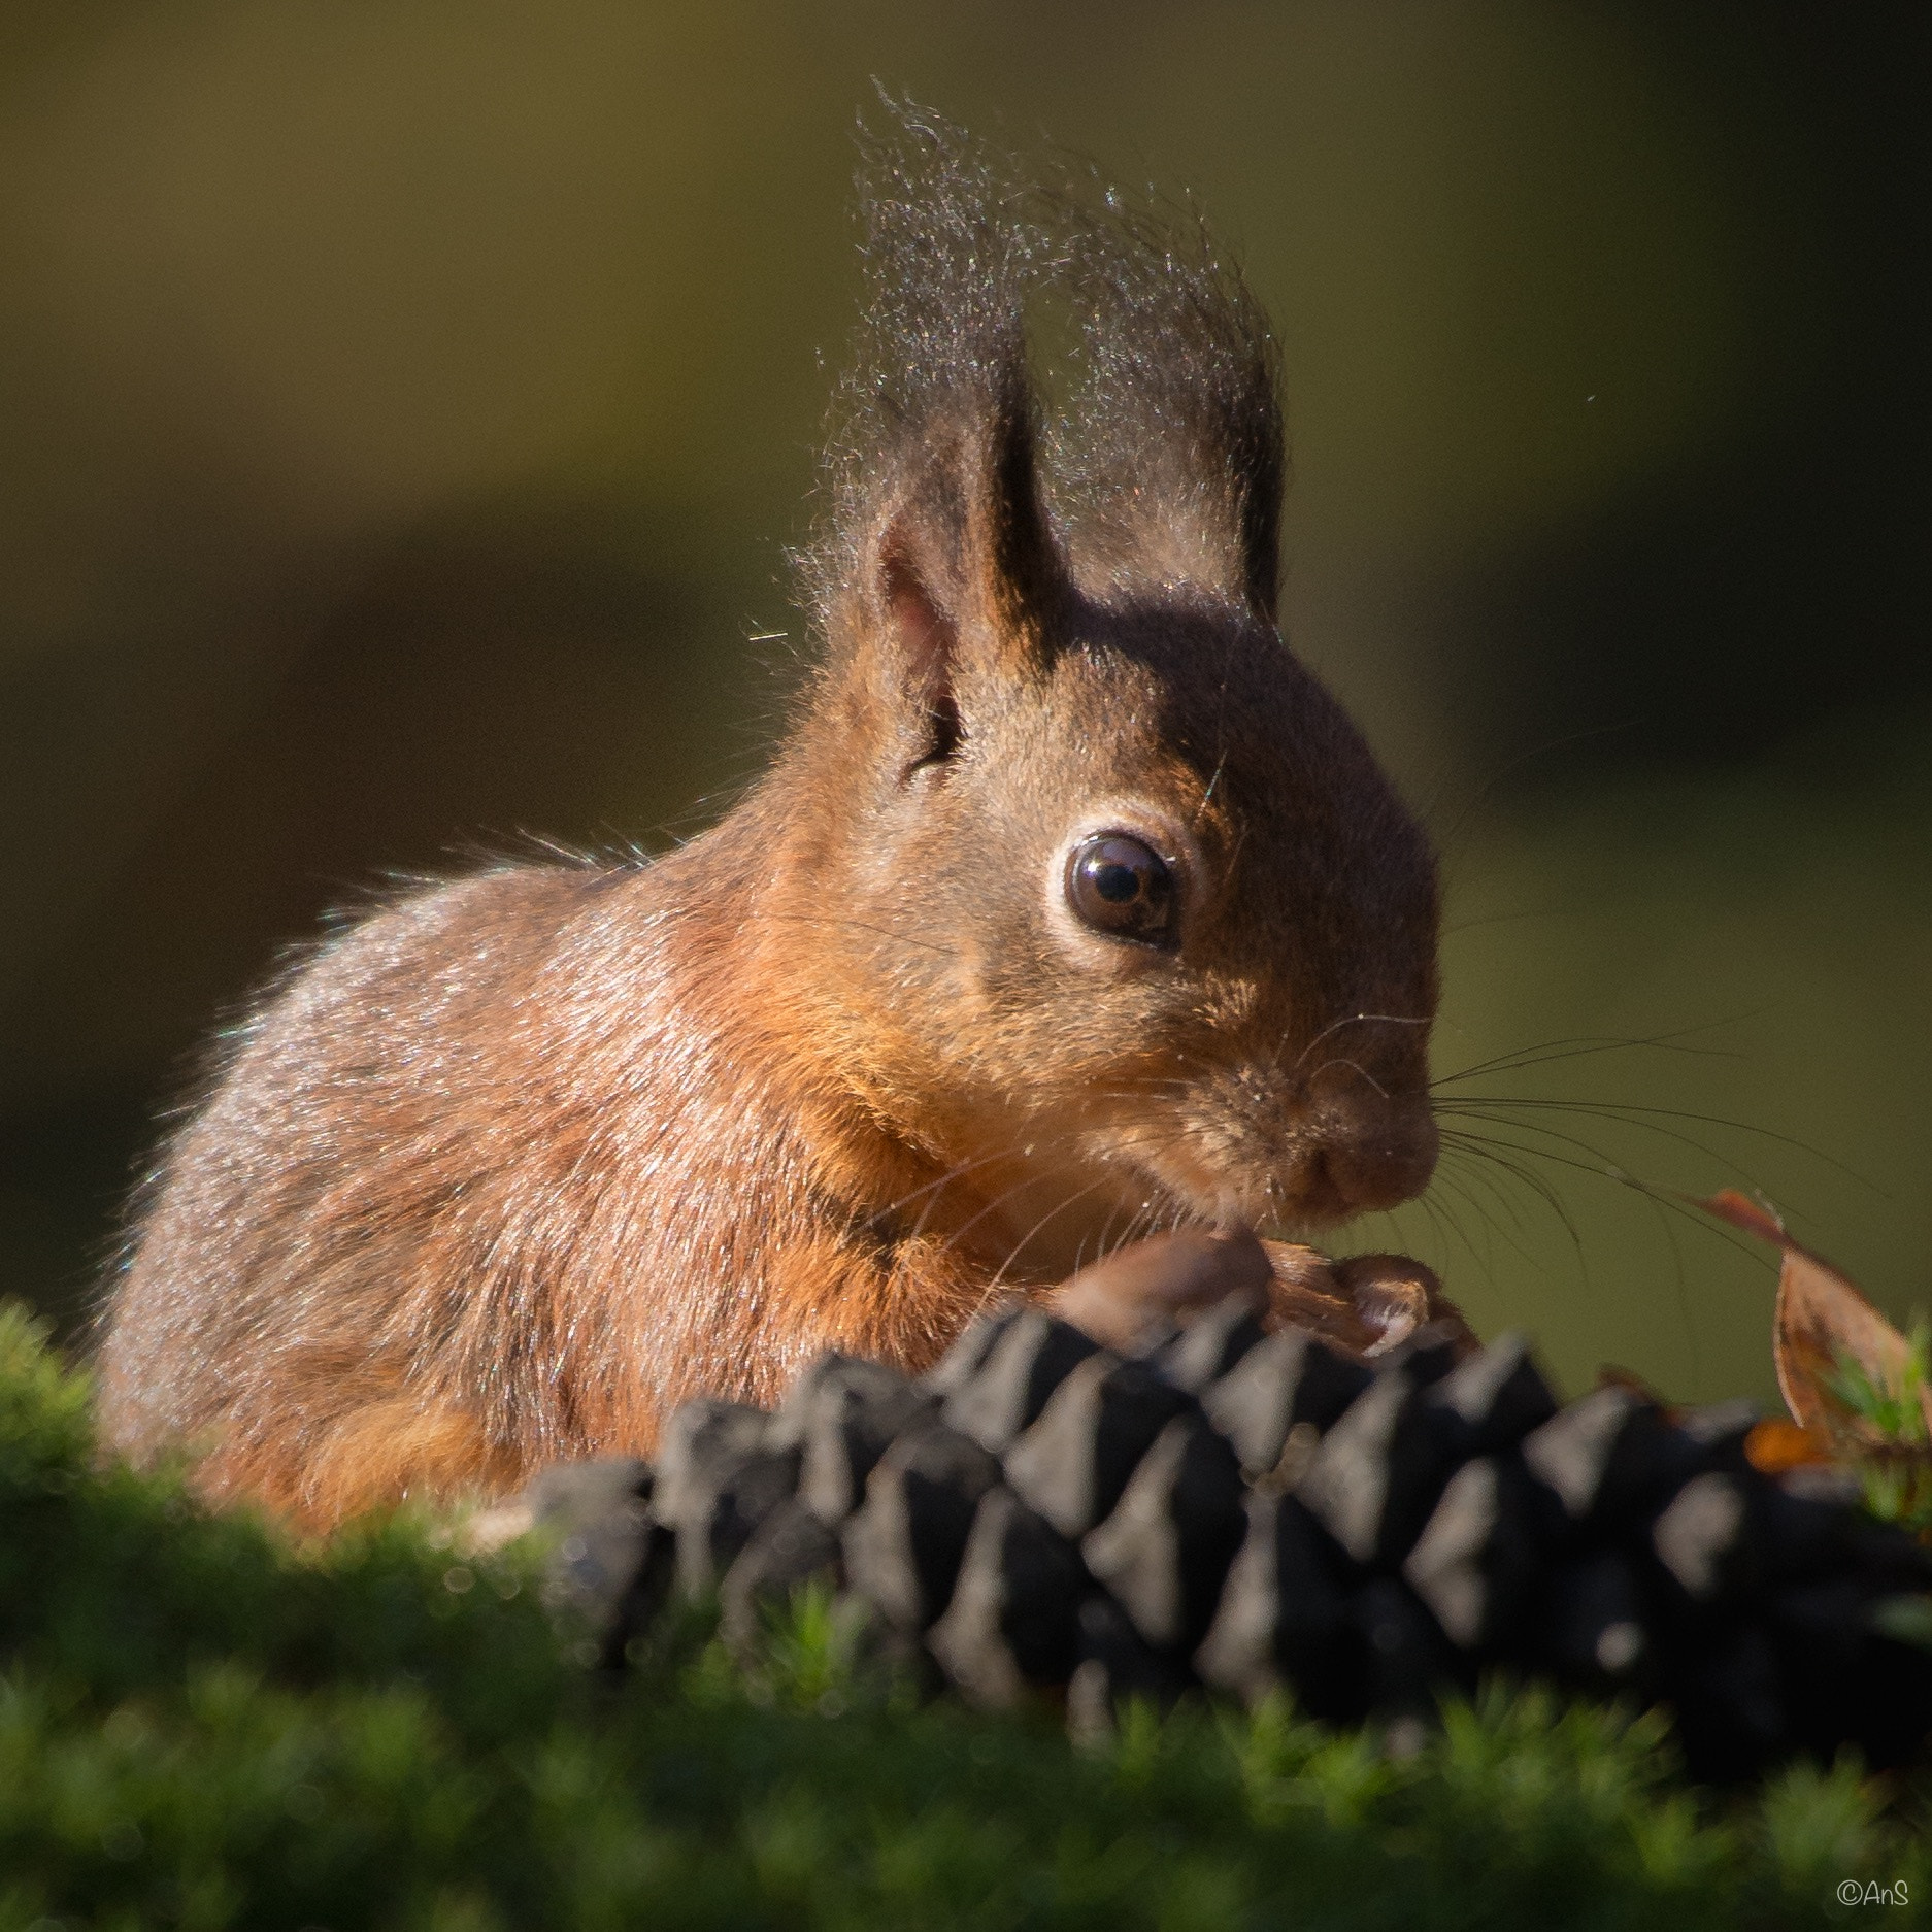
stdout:
[(1279, 321), (1289, 630), (1441, 837), (1441, 1072), (1515, 1057), (1362, 1240), (1573, 1387), (1770, 1393), (1669, 1190), (1932, 1298), (1917, 0), (10, 0), (0, 1283), (79, 1333), (328, 906), (757, 769), (869, 75), (1196, 189)]

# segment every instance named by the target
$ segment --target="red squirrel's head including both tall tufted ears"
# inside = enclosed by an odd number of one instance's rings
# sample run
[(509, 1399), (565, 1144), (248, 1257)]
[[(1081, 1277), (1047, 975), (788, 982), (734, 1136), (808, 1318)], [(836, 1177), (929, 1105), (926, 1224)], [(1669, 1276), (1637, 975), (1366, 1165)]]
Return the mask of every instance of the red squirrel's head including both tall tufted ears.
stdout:
[[(908, 135), (918, 164), (866, 182), (869, 354), (771, 887), (808, 895), (813, 1030), (885, 1130), (964, 1186), (983, 1163), (1012, 1240), (1039, 1223), (1020, 1271), (1406, 1200), (1435, 869), (1275, 624), (1265, 319), (1198, 226), (1065, 195), (1022, 220), (960, 137)], [(1041, 280), (1084, 334), (1049, 429)]]

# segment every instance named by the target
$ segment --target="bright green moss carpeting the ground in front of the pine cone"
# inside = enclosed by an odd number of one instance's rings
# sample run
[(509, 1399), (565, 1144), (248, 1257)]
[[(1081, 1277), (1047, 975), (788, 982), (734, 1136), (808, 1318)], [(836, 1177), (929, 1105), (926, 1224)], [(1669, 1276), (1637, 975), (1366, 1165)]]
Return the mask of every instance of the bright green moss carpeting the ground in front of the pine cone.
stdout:
[(750, 1669), (686, 1619), (611, 1689), (529, 1563), (406, 1519), (303, 1553), (100, 1468), (85, 1385), (0, 1314), (0, 1928), (1675, 1932), (1932, 1897), (1917, 1795), (1849, 1762), (1714, 1799), (1654, 1716), (1507, 1687), (1405, 1762), (1285, 1706), (1074, 1748), (869, 1683), (819, 1600)]

